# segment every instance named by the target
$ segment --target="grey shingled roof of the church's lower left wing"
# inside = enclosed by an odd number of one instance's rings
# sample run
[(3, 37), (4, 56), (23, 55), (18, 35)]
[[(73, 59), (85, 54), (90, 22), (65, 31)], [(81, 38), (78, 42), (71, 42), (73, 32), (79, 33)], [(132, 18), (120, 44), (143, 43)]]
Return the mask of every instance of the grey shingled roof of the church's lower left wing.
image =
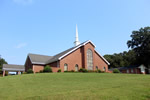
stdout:
[(28, 54), (32, 64), (46, 64), (46, 61), (51, 59), (53, 56), (39, 55), (39, 54)]

